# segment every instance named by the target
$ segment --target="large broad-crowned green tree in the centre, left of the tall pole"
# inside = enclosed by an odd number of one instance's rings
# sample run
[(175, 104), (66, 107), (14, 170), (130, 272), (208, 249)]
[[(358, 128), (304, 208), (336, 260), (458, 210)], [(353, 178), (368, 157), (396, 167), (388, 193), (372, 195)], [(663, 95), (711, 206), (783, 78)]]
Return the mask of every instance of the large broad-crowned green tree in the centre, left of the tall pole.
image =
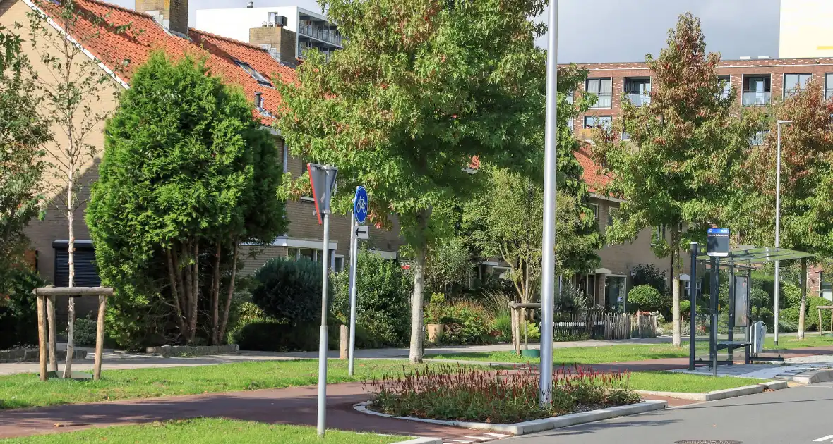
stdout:
[[(414, 258), (410, 358), (420, 362), (432, 209), (471, 190), (474, 158), (540, 163), (530, 153), (543, 128), (543, 25), (529, 17), (544, 2), (321, 5), (347, 44), (329, 57), (307, 52), (297, 82), (277, 82), (278, 126), (293, 154), (336, 165), (342, 190), (367, 187), (373, 223), (399, 218)], [(336, 210), (351, 198), (337, 193)]]

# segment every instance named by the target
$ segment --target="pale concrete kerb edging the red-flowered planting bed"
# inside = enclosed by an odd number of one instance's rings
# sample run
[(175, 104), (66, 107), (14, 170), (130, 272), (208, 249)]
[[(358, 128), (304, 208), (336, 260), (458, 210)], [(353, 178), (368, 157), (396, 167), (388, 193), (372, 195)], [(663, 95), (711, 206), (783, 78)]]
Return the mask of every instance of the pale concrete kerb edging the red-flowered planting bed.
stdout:
[(602, 421), (613, 417), (626, 417), (629, 415), (636, 415), (637, 413), (652, 412), (668, 407), (668, 402), (666, 401), (646, 400), (638, 404), (631, 404), (629, 406), (602, 408), (599, 410), (592, 410), (590, 412), (571, 413), (570, 415), (537, 419), (535, 421), (517, 422), (515, 424), (489, 424), (486, 422), (441, 421), (437, 419), (423, 419), (417, 417), (394, 417), (392, 415), (386, 415), (385, 413), (373, 412), (367, 408), (368, 404), (370, 404), (370, 401), (361, 402), (353, 406), (353, 408), (355, 408), (358, 412), (378, 417), (391, 417), (406, 421), (426, 422), (429, 424), (470, 428), (473, 430), (484, 430), (489, 432), (505, 432), (511, 433), (512, 435), (526, 435), (529, 433), (543, 432), (545, 430), (576, 426), (587, 422)]

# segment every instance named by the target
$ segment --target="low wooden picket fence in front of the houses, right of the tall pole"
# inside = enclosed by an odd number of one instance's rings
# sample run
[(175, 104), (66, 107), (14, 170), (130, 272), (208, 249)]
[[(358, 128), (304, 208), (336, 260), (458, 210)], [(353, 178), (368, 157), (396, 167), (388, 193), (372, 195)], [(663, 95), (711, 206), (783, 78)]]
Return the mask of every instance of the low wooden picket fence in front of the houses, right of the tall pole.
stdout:
[(556, 314), (557, 340), (656, 338), (656, 317), (650, 314), (605, 313), (590, 310), (580, 314)]

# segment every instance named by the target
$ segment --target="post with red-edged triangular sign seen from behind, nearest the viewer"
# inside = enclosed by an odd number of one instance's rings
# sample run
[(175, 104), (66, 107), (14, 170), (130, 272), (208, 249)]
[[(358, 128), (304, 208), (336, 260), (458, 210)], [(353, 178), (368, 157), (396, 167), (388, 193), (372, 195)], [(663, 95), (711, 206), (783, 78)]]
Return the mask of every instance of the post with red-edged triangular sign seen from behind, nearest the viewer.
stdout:
[(330, 198), (338, 170), (332, 165), (307, 164), (318, 223), (324, 224), (322, 253), (321, 330), (318, 336), (318, 436), (327, 430), (327, 284), (330, 266)]

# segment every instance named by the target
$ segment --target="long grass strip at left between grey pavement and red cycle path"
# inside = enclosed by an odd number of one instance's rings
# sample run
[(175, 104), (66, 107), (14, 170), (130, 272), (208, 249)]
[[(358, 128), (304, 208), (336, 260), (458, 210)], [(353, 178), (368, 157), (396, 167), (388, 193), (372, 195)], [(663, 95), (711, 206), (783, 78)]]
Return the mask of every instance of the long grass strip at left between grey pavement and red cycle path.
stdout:
[[(357, 360), (351, 377), (347, 361), (330, 360), (327, 382), (366, 381), (402, 372), (403, 366), (411, 367), (404, 360)], [(40, 382), (36, 374), (27, 373), (0, 376), (0, 409), (302, 386), (317, 380), (317, 359), (105, 370), (101, 381)]]

